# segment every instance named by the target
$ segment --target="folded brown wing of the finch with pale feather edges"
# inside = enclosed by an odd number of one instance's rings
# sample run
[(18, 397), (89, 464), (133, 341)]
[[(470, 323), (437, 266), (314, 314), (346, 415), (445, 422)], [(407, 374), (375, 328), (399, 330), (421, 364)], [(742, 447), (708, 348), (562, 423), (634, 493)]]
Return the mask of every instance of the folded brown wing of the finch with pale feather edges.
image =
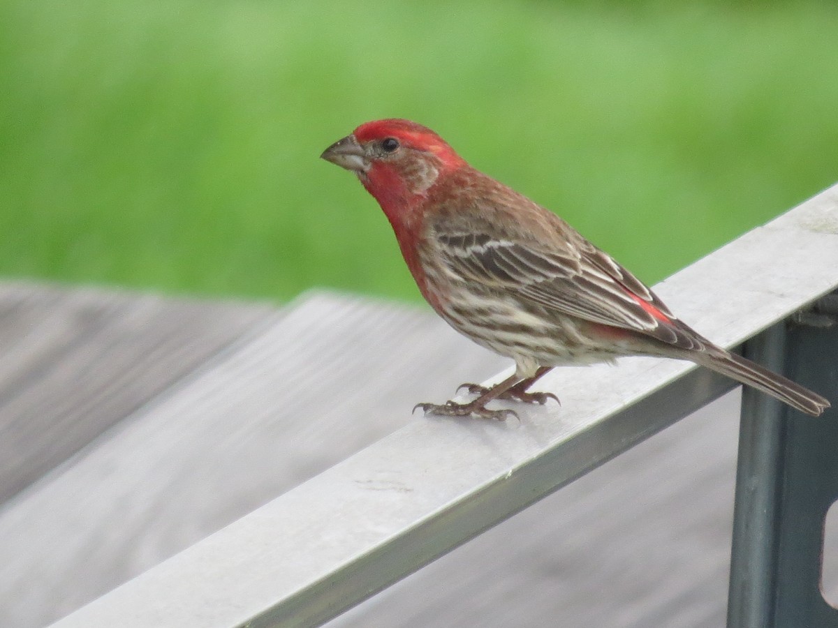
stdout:
[[(546, 210), (544, 210), (546, 211)], [(491, 291), (516, 296), (563, 314), (642, 332), (685, 349), (703, 338), (678, 321), (663, 302), (628, 270), (560, 219), (560, 237), (522, 237), (493, 223), (453, 219), (430, 229), (447, 271)], [(561, 244), (560, 244), (561, 243)]]

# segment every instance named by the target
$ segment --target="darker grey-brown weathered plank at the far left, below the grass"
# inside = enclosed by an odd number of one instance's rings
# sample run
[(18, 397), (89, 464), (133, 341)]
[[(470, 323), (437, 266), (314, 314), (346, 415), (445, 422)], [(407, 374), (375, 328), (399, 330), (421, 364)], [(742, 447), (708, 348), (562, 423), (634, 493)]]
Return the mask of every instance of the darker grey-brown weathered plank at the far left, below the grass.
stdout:
[(275, 317), (269, 306), (0, 284), (0, 504)]

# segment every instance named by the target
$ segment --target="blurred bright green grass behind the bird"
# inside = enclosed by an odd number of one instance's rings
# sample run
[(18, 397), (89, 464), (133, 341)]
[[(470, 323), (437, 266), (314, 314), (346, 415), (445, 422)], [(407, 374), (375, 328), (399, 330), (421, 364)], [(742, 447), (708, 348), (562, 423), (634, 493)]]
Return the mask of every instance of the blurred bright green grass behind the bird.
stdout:
[(0, 4), (0, 275), (418, 299), (318, 159), (431, 126), (644, 280), (838, 181), (829, 2)]

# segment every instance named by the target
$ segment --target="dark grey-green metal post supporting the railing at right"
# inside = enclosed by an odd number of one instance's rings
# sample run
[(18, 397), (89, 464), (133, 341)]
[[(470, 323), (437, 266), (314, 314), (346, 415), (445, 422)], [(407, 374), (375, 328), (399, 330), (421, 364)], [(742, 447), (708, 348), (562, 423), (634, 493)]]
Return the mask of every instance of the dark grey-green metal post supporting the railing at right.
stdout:
[(838, 628), (820, 592), (826, 512), (838, 500), (838, 299), (745, 349), (833, 404), (813, 419), (742, 393), (728, 628)]

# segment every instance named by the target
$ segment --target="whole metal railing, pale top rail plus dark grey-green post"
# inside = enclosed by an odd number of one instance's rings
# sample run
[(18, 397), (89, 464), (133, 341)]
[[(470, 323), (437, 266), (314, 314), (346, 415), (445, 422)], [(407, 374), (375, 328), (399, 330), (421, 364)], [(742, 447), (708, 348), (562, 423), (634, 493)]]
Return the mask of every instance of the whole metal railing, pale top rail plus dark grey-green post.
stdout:
[[(838, 186), (655, 290), (702, 334), (744, 343), (835, 406), (838, 325), (823, 297), (836, 286)], [(55, 628), (318, 625), (735, 385), (656, 358), (556, 369), (543, 382), (561, 408), (522, 409), (520, 423), (417, 419)], [(729, 625), (838, 626), (819, 590), (836, 447), (835, 408), (812, 419), (746, 390)]]

